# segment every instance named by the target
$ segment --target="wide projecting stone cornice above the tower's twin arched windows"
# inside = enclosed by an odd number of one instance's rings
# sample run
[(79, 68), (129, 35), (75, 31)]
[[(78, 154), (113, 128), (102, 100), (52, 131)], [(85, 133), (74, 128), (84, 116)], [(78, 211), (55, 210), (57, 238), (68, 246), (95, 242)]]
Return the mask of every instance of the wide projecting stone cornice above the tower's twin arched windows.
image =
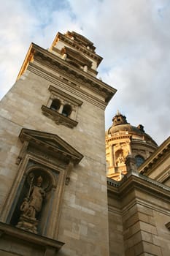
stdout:
[[(23, 62), (23, 66), (20, 69), (18, 79), (20, 75), (28, 67), (28, 63), (37, 60), (42, 63), (42, 65), (50, 66), (54, 70), (60, 69), (60, 72), (63, 70), (66, 76), (72, 75), (75, 80), (81, 80), (83, 86), (88, 86), (89, 89), (96, 91), (98, 94), (102, 94), (105, 97), (105, 102), (109, 102), (112, 99), (113, 95), (117, 91), (111, 86), (107, 85), (107, 83), (98, 80), (97, 78), (89, 75), (87, 72), (83, 72), (80, 69), (73, 67), (68, 62), (63, 59), (55, 56), (55, 54), (50, 53), (48, 50), (45, 50), (34, 43), (31, 44), (31, 47), (28, 50), (25, 61)], [(80, 81), (79, 81), (80, 82)]]

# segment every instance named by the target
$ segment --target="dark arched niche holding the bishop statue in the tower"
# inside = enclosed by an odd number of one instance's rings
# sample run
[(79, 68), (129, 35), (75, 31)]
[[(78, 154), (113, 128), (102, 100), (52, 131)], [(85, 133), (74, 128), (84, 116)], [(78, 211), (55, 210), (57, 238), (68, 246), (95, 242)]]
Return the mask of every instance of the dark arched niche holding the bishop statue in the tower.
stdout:
[(58, 173), (54, 174), (47, 167), (28, 167), (21, 182), (23, 186), (18, 189), (18, 201), (10, 224), (32, 233), (45, 233), (57, 181)]

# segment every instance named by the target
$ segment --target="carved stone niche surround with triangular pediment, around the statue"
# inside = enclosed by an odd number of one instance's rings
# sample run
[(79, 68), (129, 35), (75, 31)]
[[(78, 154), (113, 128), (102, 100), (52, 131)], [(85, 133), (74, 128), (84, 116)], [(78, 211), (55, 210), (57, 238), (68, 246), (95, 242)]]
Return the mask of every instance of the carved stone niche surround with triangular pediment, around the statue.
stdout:
[[(20, 163), (1, 212), (1, 221), (18, 225), (20, 229), (29, 230), (32, 233), (38, 232), (42, 236), (57, 238), (64, 185), (69, 184), (72, 168), (81, 161), (83, 156), (58, 135), (22, 129), (19, 138), (23, 143), (18, 157)], [(54, 160), (51, 161), (51, 159)], [(35, 181), (42, 177), (42, 188), (47, 195), (45, 203), (42, 201), (41, 216), (37, 214), (37, 219), (29, 208), (31, 197), (28, 195), (31, 195), (29, 193), (32, 191), (28, 189), (29, 173), (34, 174)], [(35, 186), (39, 187), (36, 182)], [(31, 187), (34, 186), (31, 185)], [(25, 206), (26, 208), (23, 208)], [(23, 211), (23, 214), (20, 214), (20, 211)], [(50, 218), (45, 214), (47, 211)], [(37, 212), (39, 212), (38, 209)], [(15, 218), (16, 216), (18, 219)]]

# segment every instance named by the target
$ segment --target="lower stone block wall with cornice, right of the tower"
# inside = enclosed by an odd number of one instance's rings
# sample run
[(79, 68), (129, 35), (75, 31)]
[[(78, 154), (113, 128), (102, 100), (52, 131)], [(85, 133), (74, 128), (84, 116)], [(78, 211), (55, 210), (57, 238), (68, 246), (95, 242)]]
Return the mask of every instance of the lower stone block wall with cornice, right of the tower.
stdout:
[[(117, 202), (120, 208), (118, 219), (115, 214), (109, 218), (110, 255), (121, 255), (120, 248), (124, 246), (125, 256), (168, 256), (170, 232), (166, 223), (170, 221), (169, 187), (158, 186), (156, 182), (136, 174), (124, 179), (119, 188), (109, 189), (109, 195), (117, 197), (117, 200), (109, 200), (109, 208), (117, 208)], [(123, 231), (117, 236), (117, 227), (121, 225)], [(112, 246), (115, 241), (120, 246)]]

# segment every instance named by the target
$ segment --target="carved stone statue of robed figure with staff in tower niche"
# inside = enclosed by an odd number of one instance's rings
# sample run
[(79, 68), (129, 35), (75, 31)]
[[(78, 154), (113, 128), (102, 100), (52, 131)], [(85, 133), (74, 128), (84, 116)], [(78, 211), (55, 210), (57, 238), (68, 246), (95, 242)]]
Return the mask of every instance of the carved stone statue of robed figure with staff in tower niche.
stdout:
[(36, 178), (34, 184), (34, 174), (31, 173), (30, 176), (31, 183), (28, 190), (27, 197), (24, 198), (23, 203), (20, 206), (20, 221), (16, 227), (28, 230), (32, 233), (36, 232), (36, 226), (38, 225), (38, 220), (36, 215), (42, 210), (42, 202), (45, 198), (45, 190), (42, 188), (42, 176)]

